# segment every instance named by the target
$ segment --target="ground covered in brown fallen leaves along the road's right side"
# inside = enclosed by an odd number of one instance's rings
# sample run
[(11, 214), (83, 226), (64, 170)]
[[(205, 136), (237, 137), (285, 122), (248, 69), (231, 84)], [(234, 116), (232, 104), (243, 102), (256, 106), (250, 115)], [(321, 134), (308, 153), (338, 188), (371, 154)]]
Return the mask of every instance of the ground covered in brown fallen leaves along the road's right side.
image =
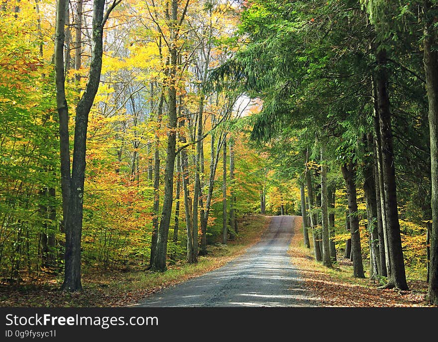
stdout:
[(333, 269), (316, 262), (303, 243), (302, 220), (296, 220), (289, 254), (313, 295), (324, 307), (427, 307), (427, 282), (408, 280), (409, 291), (382, 290), (377, 281), (353, 278), (349, 259), (338, 256)]

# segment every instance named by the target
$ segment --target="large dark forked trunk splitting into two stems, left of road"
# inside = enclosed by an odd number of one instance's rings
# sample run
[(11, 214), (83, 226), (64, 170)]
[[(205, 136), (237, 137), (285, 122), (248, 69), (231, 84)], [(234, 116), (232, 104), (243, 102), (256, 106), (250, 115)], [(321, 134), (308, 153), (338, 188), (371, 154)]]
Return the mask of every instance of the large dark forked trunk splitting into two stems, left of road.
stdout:
[[(114, 2), (107, 14), (116, 5)], [(65, 98), (64, 76), (64, 27), (66, 22), (66, 0), (58, 0), (56, 8), (56, 40), (55, 40), (55, 73), (56, 73), (56, 101), (59, 114), (60, 150), (61, 150), (61, 178), (63, 201), (67, 201), (65, 223), (65, 274), (63, 290), (77, 291), (82, 289), (81, 284), (81, 236), (83, 218), (83, 198), (85, 180), (85, 154), (88, 128), (88, 115), (93, 105), (102, 71), (103, 29), (108, 18), (104, 17), (104, 0), (94, 0), (93, 3), (93, 30), (92, 56), (88, 83), (76, 107), (75, 137), (73, 147), (73, 165), (70, 174), (70, 152), (68, 136), (68, 107)], [(68, 190), (67, 190), (68, 189)], [(64, 191), (67, 194), (64, 194)]]

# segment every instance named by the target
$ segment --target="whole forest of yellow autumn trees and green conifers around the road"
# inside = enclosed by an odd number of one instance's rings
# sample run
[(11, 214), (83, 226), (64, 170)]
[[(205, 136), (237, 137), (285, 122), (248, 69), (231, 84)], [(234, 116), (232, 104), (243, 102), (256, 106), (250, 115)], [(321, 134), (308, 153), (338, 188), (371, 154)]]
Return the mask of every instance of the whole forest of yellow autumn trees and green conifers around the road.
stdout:
[(437, 0), (1, 2), (2, 289), (166, 273), (260, 216), (438, 305)]

